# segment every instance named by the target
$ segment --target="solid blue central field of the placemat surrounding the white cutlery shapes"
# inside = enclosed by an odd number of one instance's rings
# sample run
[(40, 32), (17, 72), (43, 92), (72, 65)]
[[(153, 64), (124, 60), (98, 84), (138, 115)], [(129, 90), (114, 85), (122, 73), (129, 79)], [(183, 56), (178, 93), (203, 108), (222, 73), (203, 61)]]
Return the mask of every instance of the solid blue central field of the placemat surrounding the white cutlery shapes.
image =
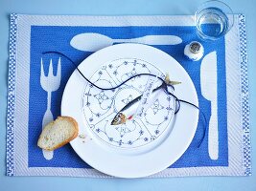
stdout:
[[(140, 37), (149, 34), (172, 34), (182, 38), (183, 42), (175, 46), (154, 46), (166, 53), (169, 53), (184, 67), (191, 76), (198, 92), (199, 107), (204, 112), (207, 120), (210, 117), (211, 103), (201, 95), (199, 84), (199, 70), (201, 60), (192, 62), (184, 55), (184, 47), (193, 40), (198, 40), (195, 27), (58, 27), (58, 26), (33, 26), (31, 29), (31, 78), (30, 78), (30, 104), (29, 104), (29, 166), (30, 167), (76, 167), (89, 168), (84, 163), (70, 145), (66, 145), (55, 151), (54, 158), (44, 159), (41, 149), (36, 146), (36, 141), (42, 129), (42, 118), (47, 107), (47, 93), (40, 85), (40, 60), (43, 60), (45, 74), (48, 74), (50, 60), (53, 61), (53, 71), (57, 74), (58, 58), (57, 54), (42, 54), (48, 51), (56, 51), (66, 54), (76, 63), (80, 63), (86, 58), (89, 52), (81, 52), (70, 46), (70, 40), (77, 34), (83, 32), (97, 32), (105, 34), (114, 39), (125, 39)], [(211, 44), (200, 41), (204, 46), (205, 54), (213, 51), (217, 52), (218, 60), (218, 96), (222, 97), (218, 102), (219, 114), (219, 139), (220, 151), (219, 159), (212, 160), (208, 155), (207, 132), (201, 146), (198, 142), (203, 136), (204, 124), (202, 115), (199, 117), (198, 129), (189, 149), (178, 159), (174, 168), (192, 166), (227, 166), (227, 127), (226, 127), (226, 88), (225, 88), (225, 59), (224, 59), (224, 38), (214, 41)], [(89, 67), (89, 66), (88, 66)], [(54, 118), (60, 115), (60, 101), (69, 76), (74, 71), (72, 63), (61, 57), (61, 83), (58, 91), (52, 93), (51, 111)], [(207, 129), (207, 128), (206, 128)], [(185, 132), (184, 132), (185, 133)]]

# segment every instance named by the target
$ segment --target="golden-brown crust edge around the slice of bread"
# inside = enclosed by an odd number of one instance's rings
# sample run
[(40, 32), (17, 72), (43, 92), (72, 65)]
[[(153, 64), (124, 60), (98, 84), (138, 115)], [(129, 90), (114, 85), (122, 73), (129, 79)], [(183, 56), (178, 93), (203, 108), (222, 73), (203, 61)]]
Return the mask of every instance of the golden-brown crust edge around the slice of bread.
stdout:
[[(42, 133), (40, 135), (40, 137), (38, 138), (38, 141), (37, 141), (37, 146), (40, 147), (41, 149), (44, 149), (44, 150), (47, 150), (47, 151), (53, 151), (53, 150), (56, 150), (58, 149), (59, 147), (61, 146), (64, 146), (65, 144), (69, 143), (71, 140), (75, 139), (78, 137), (79, 135), (79, 125), (78, 125), (78, 122), (76, 121), (76, 119), (74, 119), (73, 117), (57, 117), (56, 120), (52, 121), (51, 123), (56, 123), (58, 122), (59, 120), (69, 120), (70, 122), (72, 122), (74, 124), (74, 127), (75, 127), (75, 131), (74, 131), (74, 135), (71, 137), (71, 138), (67, 138), (65, 139), (64, 141), (60, 142), (59, 144), (57, 144), (55, 147), (52, 147), (52, 148), (48, 148), (48, 147), (41, 147), (38, 143), (39, 143), (39, 140), (40, 138), (43, 138), (42, 136)], [(48, 125), (48, 124), (47, 124)]]

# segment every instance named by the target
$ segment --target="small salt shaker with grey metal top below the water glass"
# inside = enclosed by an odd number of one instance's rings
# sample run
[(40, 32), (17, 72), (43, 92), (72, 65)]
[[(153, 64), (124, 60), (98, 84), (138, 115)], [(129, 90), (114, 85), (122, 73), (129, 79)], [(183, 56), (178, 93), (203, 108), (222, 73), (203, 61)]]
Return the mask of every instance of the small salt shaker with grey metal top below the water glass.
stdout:
[(203, 52), (202, 45), (197, 41), (193, 41), (186, 45), (184, 49), (184, 54), (193, 61), (198, 61), (202, 57)]

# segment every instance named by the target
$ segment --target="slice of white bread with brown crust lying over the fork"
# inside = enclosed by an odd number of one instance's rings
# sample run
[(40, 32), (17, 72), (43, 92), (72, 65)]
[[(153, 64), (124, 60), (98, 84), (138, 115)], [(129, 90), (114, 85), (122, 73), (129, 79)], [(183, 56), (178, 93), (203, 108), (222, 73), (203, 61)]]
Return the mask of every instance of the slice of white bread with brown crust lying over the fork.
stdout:
[(53, 151), (67, 144), (79, 134), (77, 121), (72, 117), (58, 117), (48, 123), (37, 141), (38, 147)]

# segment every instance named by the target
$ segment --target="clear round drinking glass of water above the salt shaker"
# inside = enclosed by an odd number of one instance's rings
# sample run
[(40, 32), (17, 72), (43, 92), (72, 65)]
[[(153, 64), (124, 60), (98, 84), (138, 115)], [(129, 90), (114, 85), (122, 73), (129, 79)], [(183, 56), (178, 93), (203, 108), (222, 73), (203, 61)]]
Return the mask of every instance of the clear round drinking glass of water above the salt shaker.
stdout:
[(218, 0), (206, 1), (195, 13), (198, 36), (203, 40), (217, 40), (230, 31), (234, 24), (231, 8)]

